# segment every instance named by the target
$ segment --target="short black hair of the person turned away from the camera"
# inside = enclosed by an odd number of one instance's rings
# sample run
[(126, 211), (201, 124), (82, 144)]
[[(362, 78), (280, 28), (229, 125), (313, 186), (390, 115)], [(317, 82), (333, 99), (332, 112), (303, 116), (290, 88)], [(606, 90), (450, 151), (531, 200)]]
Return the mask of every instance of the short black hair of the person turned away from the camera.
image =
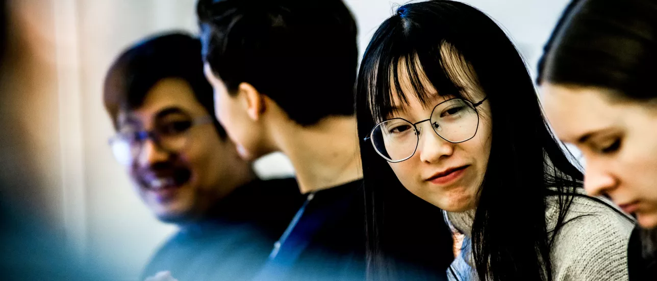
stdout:
[(235, 93), (252, 84), (290, 119), (353, 115), (357, 27), (340, 0), (200, 0), (204, 61)]

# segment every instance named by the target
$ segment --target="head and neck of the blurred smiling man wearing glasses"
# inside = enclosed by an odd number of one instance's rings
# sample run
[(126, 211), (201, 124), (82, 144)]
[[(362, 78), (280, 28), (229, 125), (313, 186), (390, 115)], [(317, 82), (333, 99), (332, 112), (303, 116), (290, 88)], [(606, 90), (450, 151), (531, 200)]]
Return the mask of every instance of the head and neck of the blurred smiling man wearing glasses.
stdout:
[(104, 105), (112, 152), (162, 221), (198, 219), (253, 178), (212, 115), (198, 39), (170, 33), (129, 47), (108, 71)]

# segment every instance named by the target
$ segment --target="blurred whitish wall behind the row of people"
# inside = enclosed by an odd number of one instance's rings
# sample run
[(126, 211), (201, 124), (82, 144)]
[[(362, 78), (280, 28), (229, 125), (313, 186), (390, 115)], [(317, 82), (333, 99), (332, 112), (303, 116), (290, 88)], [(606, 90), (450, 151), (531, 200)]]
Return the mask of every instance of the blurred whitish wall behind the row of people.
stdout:
[[(310, 0), (309, 0), (310, 1)], [(142, 37), (170, 29), (196, 31), (194, 0), (14, 1), (35, 31), (43, 58), (32, 73), (45, 98), (26, 102), (35, 154), (51, 190), (49, 210), (81, 257), (108, 261), (122, 280), (137, 280), (150, 253), (175, 230), (159, 223), (133, 193), (107, 139), (112, 126), (102, 107), (102, 81), (114, 57)], [(509, 33), (535, 73), (535, 62), (566, 0), (470, 0)], [(359, 49), (405, 2), (347, 0), (359, 23)], [(53, 60), (52, 58), (56, 58)], [(48, 71), (51, 70), (51, 71)], [(57, 75), (47, 74), (57, 73)], [(55, 136), (55, 138), (53, 138)], [(265, 177), (292, 174), (281, 155), (256, 164)]]

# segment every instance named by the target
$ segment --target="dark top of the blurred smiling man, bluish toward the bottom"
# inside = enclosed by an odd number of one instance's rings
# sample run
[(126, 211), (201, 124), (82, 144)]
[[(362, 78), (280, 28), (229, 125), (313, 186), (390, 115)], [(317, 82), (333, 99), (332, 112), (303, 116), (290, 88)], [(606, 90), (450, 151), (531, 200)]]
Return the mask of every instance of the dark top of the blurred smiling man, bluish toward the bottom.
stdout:
[(171, 271), (181, 281), (250, 280), (303, 200), (294, 179), (239, 187), (202, 221), (174, 234), (141, 280), (160, 271)]

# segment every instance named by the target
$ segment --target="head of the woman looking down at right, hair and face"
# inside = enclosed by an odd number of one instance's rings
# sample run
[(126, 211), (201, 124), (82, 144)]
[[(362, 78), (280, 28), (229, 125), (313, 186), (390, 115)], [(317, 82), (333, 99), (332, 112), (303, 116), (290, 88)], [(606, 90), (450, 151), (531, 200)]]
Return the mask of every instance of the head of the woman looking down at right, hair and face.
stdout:
[(545, 112), (581, 151), (587, 192), (657, 227), (657, 3), (576, 2), (539, 65)]

